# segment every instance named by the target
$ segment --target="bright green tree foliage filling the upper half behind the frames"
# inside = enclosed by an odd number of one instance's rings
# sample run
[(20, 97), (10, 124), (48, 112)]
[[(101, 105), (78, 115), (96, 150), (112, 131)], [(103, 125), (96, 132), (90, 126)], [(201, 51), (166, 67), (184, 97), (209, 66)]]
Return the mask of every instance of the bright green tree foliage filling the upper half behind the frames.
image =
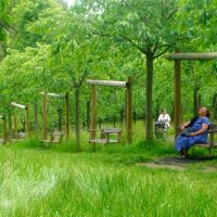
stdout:
[[(14, 29), (0, 65), (1, 113), (11, 101), (37, 102), (40, 110), (40, 91), (75, 91), (73, 80), (78, 82), (87, 71), (89, 78), (95, 79), (126, 80), (132, 75), (133, 110), (143, 116), (143, 99), (149, 92), (144, 85), (148, 51), (157, 58), (173, 46), (183, 51), (216, 50), (215, 1), (76, 1), (67, 9), (54, 0), (25, 0), (12, 9), (7, 17), (12, 16)], [(173, 116), (173, 64), (162, 58), (154, 68), (152, 117), (156, 118), (162, 107)], [(193, 113), (193, 88), (197, 85), (202, 104), (212, 107), (216, 63), (194, 63), (193, 73), (184, 63), (183, 71), (184, 114)], [(80, 91), (84, 123), (90, 90), (84, 82)], [(97, 97), (98, 119), (118, 119), (125, 108), (125, 92), (99, 87)], [(64, 105), (60, 101), (49, 103), (52, 123), (59, 104)]]

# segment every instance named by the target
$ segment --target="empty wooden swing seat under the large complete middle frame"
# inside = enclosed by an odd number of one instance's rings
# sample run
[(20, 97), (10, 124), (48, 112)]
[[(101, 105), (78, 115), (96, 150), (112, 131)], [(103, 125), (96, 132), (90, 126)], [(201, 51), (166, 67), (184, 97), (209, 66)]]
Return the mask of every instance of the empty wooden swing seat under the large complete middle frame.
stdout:
[[(117, 139), (111, 139), (110, 136), (114, 135)], [(89, 140), (90, 143), (119, 143), (122, 141), (122, 129), (117, 128), (104, 128), (101, 130), (101, 138), (100, 139), (91, 139)]]

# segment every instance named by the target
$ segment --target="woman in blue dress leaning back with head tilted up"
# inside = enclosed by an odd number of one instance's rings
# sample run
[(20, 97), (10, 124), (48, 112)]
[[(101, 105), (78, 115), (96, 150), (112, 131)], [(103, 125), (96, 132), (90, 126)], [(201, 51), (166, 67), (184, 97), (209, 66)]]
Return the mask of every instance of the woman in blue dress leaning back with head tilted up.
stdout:
[(179, 152), (178, 158), (187, 158), (189, 149), (195, 143), (206, 143), (208, 140), (209, 112), (200, 107), (197, 116), (181, 127), (182, 132), (176, 139), (175, 149)]

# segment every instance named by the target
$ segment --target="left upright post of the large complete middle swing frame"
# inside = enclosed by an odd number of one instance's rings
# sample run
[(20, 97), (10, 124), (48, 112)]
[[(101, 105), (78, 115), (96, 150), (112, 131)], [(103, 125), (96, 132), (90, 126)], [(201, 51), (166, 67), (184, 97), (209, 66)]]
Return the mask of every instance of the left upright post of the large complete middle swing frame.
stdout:
[[(90, 129), (90, 139), (95, 139), (95, 86), (91, 86), (91, 129)], [(92, 143), (92, 150), (95, 151), (95, 143)]]

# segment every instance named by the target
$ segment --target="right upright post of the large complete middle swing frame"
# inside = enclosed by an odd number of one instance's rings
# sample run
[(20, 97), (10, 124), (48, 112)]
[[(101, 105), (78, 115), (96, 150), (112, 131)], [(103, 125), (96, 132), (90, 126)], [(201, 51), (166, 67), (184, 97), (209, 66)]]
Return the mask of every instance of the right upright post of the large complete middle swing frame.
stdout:
[(132, 77), (128, 77), (127, 86), (127, 142), (132, 142)]

